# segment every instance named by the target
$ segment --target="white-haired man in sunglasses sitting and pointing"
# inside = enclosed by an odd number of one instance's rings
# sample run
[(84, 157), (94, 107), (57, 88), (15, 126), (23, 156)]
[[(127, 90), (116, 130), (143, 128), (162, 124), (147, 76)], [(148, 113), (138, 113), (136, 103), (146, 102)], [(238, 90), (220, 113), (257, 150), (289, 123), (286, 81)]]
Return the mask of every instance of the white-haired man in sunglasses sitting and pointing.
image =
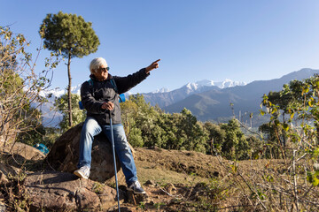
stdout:
[(159, 60), (127, 77), (116, 77), (109, 74), (110, 68), (102, 57), (91, 61), (89, 64), (90, 79), (84, 82), (81, 87), (82, 104), (87, 110), (87, 118), (82, 127), (79, 170), (74, 171), (76, 176), (89, 178), (91, 148), (94, 136), (103, 132), (108, 140), (112, 140), (111, 115), (115, 151), (120, 159), (128, 190), (134, 193), (145, 193), (137, 180), (136, 165), (128, 146), (123, 125), (121, 125), (119, 94), (127, 92), (130, 88), (135, 87), (146, 79), (153, 69), (159, 67)]

